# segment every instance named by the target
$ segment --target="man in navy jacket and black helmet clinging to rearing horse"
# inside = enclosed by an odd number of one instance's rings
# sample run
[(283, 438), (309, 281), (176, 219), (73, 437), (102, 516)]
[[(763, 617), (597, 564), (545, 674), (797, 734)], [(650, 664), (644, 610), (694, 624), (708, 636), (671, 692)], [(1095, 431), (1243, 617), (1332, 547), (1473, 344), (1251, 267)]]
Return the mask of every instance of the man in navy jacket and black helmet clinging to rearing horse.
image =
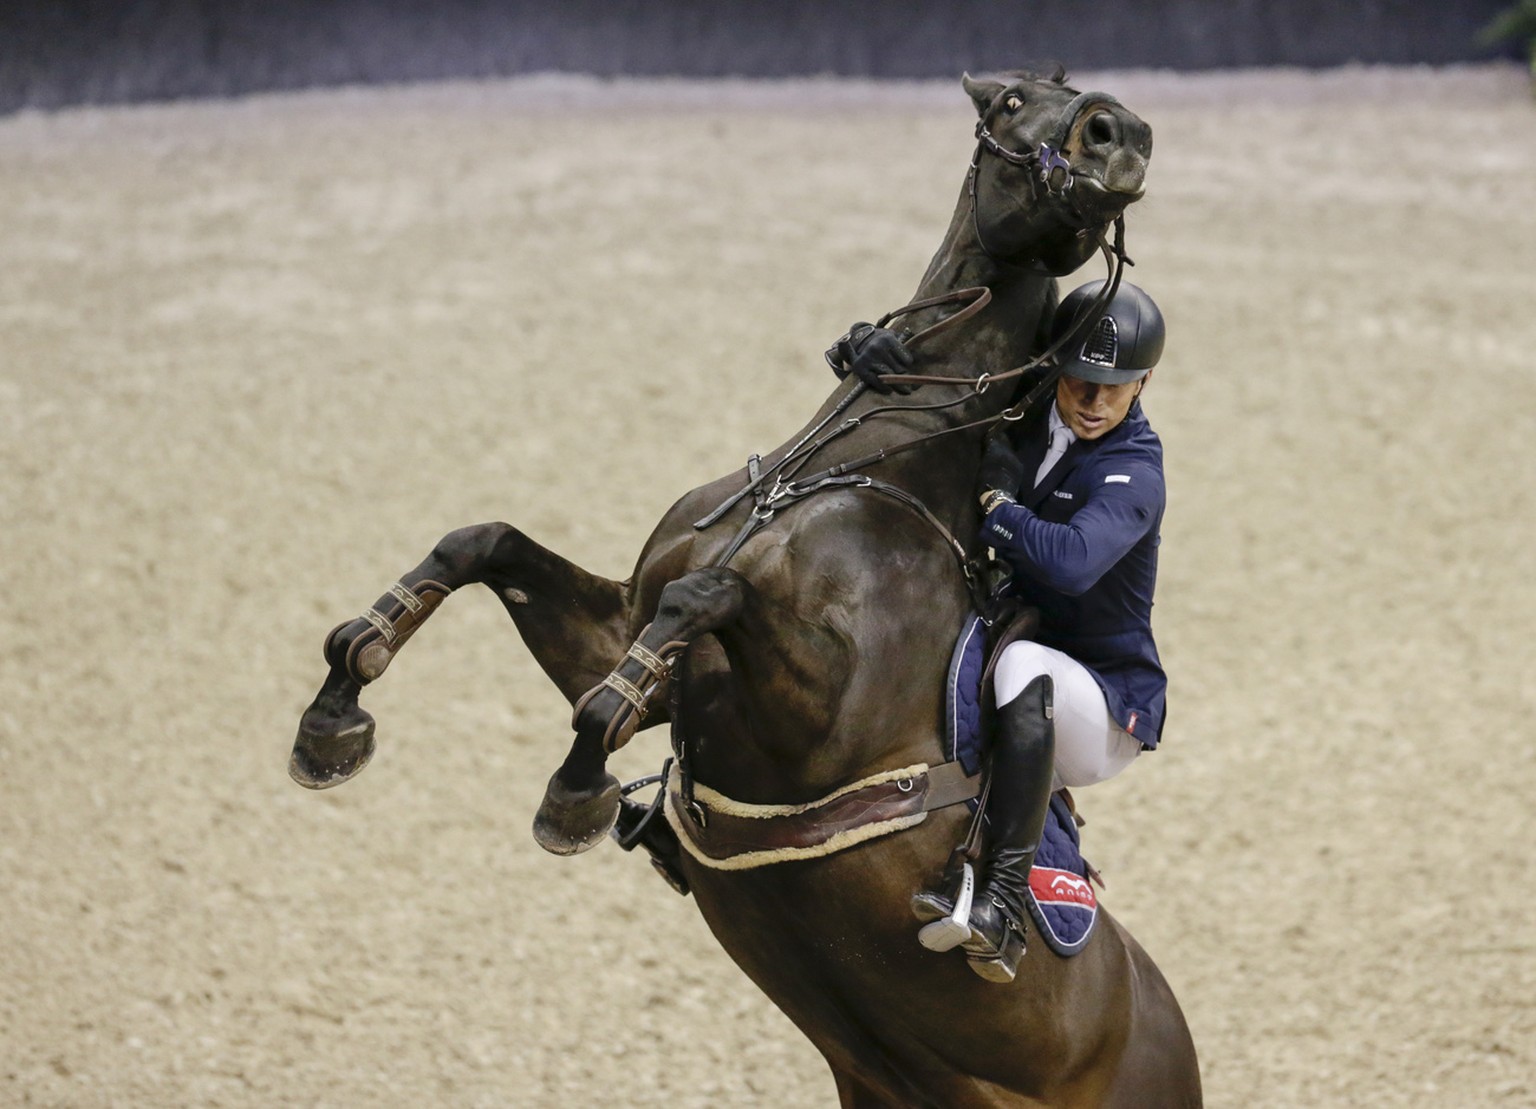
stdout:
[[(991, 982), (1012, 982), (1025, 951), (1025, 891), (1052, 790), (1118, 774), (1163, 730), (1167, 680), (1152, 639), (1163, 445), (1140, 402), (1163, 353), (1163, 315), (1121, 284), (1080, 319), (1101, 289), (1061, 301), (1052, 341), (1072, 336), (1057, 355), (1055, 404), (994, 435), (977, 476), (980, 541), (1012, 570), (1008, 591), (1041, 616), (1035, 641), (1006, 647), (995, 668), (986, 874), (962, 942)], [(828, 361), (885, 392), (880, 375), (911, 356), (894, 332), (856, 324)], [(920, 892), (912, 911), (940, 920), (952, 900)]]

